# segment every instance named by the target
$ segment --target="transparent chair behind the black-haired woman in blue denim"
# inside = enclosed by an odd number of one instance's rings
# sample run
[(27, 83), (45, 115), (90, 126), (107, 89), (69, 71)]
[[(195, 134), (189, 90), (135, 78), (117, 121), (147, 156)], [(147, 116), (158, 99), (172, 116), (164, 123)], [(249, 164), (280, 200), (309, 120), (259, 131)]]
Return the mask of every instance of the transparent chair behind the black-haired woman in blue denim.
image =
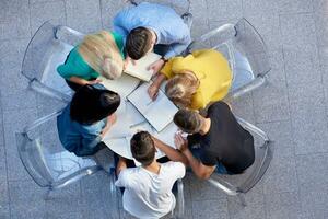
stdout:
[(21, 161), (32, 178), (43, 187), (59, 188), (99, 170), (91, 159), (78, 158), (60, 143), (55, 112), (16, 134)]

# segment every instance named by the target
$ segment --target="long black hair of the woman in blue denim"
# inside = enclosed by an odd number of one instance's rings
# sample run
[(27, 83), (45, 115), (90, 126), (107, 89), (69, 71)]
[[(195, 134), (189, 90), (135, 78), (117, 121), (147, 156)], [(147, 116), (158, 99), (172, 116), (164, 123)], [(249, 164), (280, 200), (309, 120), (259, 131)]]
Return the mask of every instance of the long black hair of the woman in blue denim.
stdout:
[(113, 114), (119, 104), (120, 97), (117, 93), (86, 84), (73, 95), (70, 116), (72, 120), (89, 125)]

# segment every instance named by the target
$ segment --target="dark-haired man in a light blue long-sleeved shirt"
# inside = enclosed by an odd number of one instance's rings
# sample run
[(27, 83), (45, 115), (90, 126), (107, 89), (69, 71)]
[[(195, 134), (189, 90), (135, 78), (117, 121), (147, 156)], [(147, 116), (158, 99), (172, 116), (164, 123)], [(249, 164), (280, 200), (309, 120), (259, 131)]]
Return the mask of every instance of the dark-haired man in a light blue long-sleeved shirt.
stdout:
[(140, 59), (155, 45), (155, 53), (163, 55), (163, 58), (150, 66), (154, 73), (191, 42), (190, 30), (184, 20), (163, 4), (142, 2), (127, 8), (114, 18), (113, 24), (114, 31), (124, 36), (130, 59)]

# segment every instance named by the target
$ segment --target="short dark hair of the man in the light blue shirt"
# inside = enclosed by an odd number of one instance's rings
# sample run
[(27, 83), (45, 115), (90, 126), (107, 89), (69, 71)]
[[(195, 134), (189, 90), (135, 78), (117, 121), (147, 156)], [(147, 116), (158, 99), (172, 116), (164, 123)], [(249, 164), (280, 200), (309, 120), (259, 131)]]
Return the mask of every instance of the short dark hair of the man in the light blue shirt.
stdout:
[(127, 36), (126, 50), (129, 57), (134, 60), (143, 57), (152, 46), (152, 34), (145, 27), (137, 27), (130, 31)]

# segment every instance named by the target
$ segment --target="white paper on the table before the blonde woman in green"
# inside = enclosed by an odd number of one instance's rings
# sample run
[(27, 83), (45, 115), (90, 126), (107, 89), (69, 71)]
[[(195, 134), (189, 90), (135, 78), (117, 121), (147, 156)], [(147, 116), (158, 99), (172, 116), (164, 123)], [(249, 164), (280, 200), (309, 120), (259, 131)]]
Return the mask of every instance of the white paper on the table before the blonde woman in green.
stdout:
[(101, 77), (101, 79), (102, 84), (106, 89), (118, 93), (121, 100), (125, 100), (127, 95), (129, 95), (140, 83), (139, 79), (128, 76), (126, 73), (121, 74), (120, 78), (115, 80), (108, 80), (104, 77)]

